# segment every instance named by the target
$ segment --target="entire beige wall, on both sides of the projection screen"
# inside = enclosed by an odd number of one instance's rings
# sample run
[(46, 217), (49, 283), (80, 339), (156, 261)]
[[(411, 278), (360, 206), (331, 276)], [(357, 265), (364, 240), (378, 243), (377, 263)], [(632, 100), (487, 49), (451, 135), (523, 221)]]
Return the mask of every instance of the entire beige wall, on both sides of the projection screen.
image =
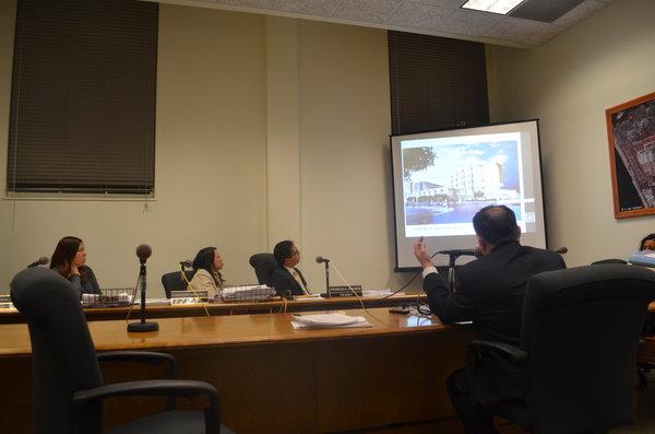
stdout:
[[(14, 11), (0, 2), (2, 191)], [(488, 49), (493, 120), (540, 118), (548, 230), (570, 265), (626, 257), (655, 227), (614, 219), (605, 126), (605, 108), (654, 90), (652, 16), (650, 0), (617, 1), (536, 50)], [(153, 296), (205, 245), (228, 283), (253, 282), (248, 257), (284, 237), (317, 290), (318, 255), (349, 283), (398, 288), (386, 33), (167, 4), (159, 26), (155, 200), (0, 200), (0, 293), (67, 234), (105, 288), (132, 284), (150, 243)]]

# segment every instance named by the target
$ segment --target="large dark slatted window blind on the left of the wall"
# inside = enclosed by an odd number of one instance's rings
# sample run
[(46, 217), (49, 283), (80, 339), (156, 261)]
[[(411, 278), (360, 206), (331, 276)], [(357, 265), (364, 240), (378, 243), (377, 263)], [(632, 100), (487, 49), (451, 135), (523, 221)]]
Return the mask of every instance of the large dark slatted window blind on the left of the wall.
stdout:
[(8, 191), (154, 190), (157, 3), (19, 0)]

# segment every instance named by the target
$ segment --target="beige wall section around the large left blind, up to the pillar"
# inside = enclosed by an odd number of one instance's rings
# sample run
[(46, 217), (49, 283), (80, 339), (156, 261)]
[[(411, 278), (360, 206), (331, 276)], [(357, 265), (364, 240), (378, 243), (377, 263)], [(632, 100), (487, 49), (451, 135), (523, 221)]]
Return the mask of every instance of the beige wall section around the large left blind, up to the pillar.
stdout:
[[(8, 16), (13, 13), (3, 11), (4, 22)], [(0, 62), (3, 157), (7, 48)], [(264, 55), (262, 16), (162, 5), (155, 200), (0, 201), (0, 288), (25, 263), (49, 256), (67, 234), (86, 242), (87, 261), (105, 288), (134, 283), (141, 243), (154, 251), (152, 296), (163, 296), (162, 273), (206, 245), (219, 247), (229, 283), (254, 281), (247, 260), (266, 244)], [(0, 166), (4, 181), (5, 164)]]

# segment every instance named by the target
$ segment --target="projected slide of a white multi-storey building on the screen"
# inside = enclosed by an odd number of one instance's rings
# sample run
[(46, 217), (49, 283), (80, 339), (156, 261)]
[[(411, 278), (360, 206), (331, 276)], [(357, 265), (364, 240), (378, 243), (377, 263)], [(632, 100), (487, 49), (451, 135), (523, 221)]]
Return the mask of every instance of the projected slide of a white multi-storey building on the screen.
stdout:
[(473, 215), (492, 203), (522, 220), (519, 153), (519, 134), (404, 141), (406, 236), (469, 234)]

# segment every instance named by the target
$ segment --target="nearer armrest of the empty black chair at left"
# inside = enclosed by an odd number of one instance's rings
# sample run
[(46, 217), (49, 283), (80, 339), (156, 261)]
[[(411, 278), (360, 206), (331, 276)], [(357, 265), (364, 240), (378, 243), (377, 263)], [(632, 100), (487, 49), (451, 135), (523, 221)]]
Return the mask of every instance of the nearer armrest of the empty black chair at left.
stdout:
[(221, 425), (221, 398), (214, 386), (205, 382), (184, 379), (150, 379), (142, 382), (117, 383), (73, 394), (73, 419), (84, 419), (84, 408), (97, 400), (126, 396), (176, 396), (195, 398), (207, 396), (209, 406), (204, 409), (206, 432), (218, 432)]

